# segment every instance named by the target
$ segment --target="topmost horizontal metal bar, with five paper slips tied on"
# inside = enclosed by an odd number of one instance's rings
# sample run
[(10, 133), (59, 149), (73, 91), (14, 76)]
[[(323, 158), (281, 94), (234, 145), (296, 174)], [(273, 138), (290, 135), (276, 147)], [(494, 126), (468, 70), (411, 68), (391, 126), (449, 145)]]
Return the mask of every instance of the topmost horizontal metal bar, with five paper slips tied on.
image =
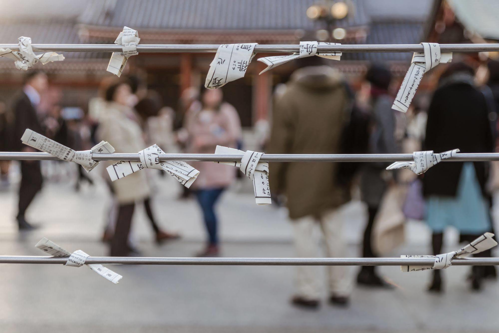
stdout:
[[(213, 53), (220, 44), (142, 44), (137, 45), (140, 52), (162, 53)], [(18, 50), (17, 44), (0, 44), (2, 48)], [(121, 45), (115, 44), (31, 44), (33, 51), (39, 52), (121, 52)], [(421, 44), (355, 44), (319, 45), (319, 52), (423, 52)], [(442, 52), (482, 52), (499, 51), (499, 44), (440, 44)], [(298, 52), (299, 45), (275, 44), (256, 45), (255, 52), (284, 53)]]

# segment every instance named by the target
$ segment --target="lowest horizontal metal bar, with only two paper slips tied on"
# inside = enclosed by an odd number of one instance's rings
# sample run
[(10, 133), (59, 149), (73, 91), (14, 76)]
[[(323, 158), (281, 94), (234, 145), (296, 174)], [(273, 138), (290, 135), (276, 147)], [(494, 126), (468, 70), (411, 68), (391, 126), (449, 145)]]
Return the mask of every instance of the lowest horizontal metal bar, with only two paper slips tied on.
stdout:
[[(0, 256), (0, 264), (65, 264), (67, 258)], [(433, 266), (433, 258), (162, 258), (88, 257), (85, 264), (228, 266)], [(454, 259), (456, 266), (499, 265), (499, 258)]]

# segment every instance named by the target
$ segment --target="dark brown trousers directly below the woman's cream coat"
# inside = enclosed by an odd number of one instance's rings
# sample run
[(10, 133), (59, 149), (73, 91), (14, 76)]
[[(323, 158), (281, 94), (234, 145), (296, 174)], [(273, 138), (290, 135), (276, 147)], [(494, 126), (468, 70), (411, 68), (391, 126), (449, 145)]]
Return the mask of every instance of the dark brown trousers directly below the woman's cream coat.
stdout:
[(135, 209), (135, 203), (121, 204), (118, 206), (118, 217), (114, 236), (111, 241), (111, 256), (123, 257), (130, 252), (128, 247), (128, 235), (132, 225), (132, 216)]

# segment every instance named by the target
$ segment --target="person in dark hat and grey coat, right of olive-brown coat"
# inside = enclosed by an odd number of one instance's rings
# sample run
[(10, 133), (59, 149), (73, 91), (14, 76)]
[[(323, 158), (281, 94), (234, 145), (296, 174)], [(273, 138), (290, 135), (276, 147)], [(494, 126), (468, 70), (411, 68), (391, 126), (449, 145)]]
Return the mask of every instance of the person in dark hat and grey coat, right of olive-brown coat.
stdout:
[[(398, 152), (395, 140), (395, 115), (392, 110), (393, 97), (388, 93), (392, 74), (382, 65), (372, 65), (365, 76), (368, 98), (364, 103), (370, 113), (369, 154), (394, 154)], [(393, 173), (379, 162), (363, 163), (361, 166), (360, 191), (362, 201), (367, 205), (367, 223), (362, 240), (362, 257), (374, 258), (371, 242), (374, 221), (381, 205), (383, 194), (393, 182)], [(376, 273), (375, 266), (362, 266), (357, 275), (357, 284), (365, 287), (391, 288)]]

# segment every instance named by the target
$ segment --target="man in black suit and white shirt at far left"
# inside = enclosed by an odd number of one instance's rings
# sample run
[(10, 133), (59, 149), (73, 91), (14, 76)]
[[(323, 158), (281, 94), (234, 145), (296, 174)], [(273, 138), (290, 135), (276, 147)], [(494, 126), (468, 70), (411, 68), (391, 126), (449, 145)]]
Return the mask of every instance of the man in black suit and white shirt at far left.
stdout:
[[(11, 143), (12, 151), (35, 152), (32, 147), (21, 142), (26, 128), (44, 134), (44, 128), (36, 107), (40, 102), (40, 93), (48, 86), (47, 75), (41, 71), (29, 71), (24, 79), (24, 86), (12, 104)], [(19, 185), (19, 201), (17, 223), (19, 230), (30, 230), (35, 227), (25, 219), (25, 212), (35, 195), (41, 190), (42, 175), (40, 161), (21, 161), (21, 182)]]

